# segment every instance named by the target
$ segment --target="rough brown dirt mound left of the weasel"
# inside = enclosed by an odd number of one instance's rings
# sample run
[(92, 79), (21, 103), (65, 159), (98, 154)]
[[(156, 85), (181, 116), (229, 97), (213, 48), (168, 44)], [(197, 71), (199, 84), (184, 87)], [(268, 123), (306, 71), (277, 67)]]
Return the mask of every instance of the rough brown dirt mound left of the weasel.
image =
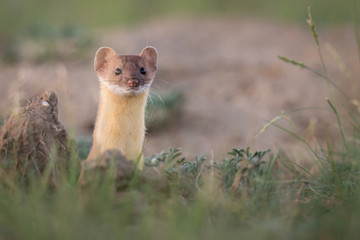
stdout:
[(18, 109), (0, 130), (0, 163), (23, 175), (42, 173), (50, 159), (66, 161), (67, 133), (58, 119), (58, 98), (44, 92)]

